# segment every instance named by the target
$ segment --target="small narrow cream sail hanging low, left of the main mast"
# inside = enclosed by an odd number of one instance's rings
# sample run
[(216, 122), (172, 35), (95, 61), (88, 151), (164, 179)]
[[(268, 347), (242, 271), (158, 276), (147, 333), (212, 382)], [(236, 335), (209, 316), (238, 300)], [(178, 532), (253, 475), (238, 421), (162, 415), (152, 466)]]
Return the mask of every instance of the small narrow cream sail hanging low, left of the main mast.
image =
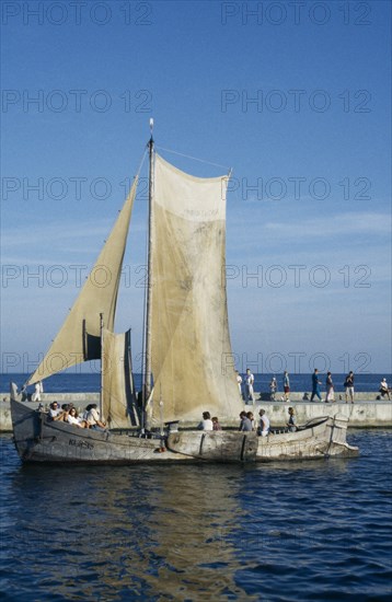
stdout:
[(108, 428), (137, 426), (130, 360), (130, 331), (114, 334), (103, 329), (102, 414)]

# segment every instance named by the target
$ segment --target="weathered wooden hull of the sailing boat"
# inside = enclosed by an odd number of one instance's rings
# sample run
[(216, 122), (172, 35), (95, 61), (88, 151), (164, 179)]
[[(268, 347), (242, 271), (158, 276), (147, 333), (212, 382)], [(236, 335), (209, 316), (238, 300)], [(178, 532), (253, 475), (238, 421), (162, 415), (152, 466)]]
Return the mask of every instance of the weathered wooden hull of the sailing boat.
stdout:
[[(131, 464), (136, 462), (266, 462), (328, 455), (355, 455), (346, 443), (347, 420), (320, 424), (290, 433), (180, 431), (160, 439), (81, 429), (11, 400), (14, 442), (24, 462)], [(338, 422), (342, 422), (339, 425)]]

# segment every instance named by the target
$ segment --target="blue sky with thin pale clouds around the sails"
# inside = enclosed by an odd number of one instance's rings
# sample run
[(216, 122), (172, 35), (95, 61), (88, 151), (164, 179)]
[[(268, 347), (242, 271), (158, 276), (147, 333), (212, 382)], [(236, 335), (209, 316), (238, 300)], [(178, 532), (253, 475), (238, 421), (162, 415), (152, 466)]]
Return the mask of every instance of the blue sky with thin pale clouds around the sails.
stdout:
[[(389, 2), (3, 2), (2, 371), (31, 371), (157, 147), (233, 169), (240, 370), (391, 371)], [(257, 14), (256, 14), (256, 11)], [(224, 169), (162, 154), (196, 175)], [(140, 350), (145, 194), (116, 329)]]

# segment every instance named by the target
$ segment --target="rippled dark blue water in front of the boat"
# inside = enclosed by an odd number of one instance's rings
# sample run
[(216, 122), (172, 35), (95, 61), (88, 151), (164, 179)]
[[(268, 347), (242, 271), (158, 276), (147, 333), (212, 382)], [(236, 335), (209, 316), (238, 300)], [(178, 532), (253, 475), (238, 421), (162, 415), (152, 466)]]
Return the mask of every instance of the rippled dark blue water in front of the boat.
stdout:
[(392, 438), (358, 459), (27, 466), (2, 450), (3, 600), (383, 601)]

